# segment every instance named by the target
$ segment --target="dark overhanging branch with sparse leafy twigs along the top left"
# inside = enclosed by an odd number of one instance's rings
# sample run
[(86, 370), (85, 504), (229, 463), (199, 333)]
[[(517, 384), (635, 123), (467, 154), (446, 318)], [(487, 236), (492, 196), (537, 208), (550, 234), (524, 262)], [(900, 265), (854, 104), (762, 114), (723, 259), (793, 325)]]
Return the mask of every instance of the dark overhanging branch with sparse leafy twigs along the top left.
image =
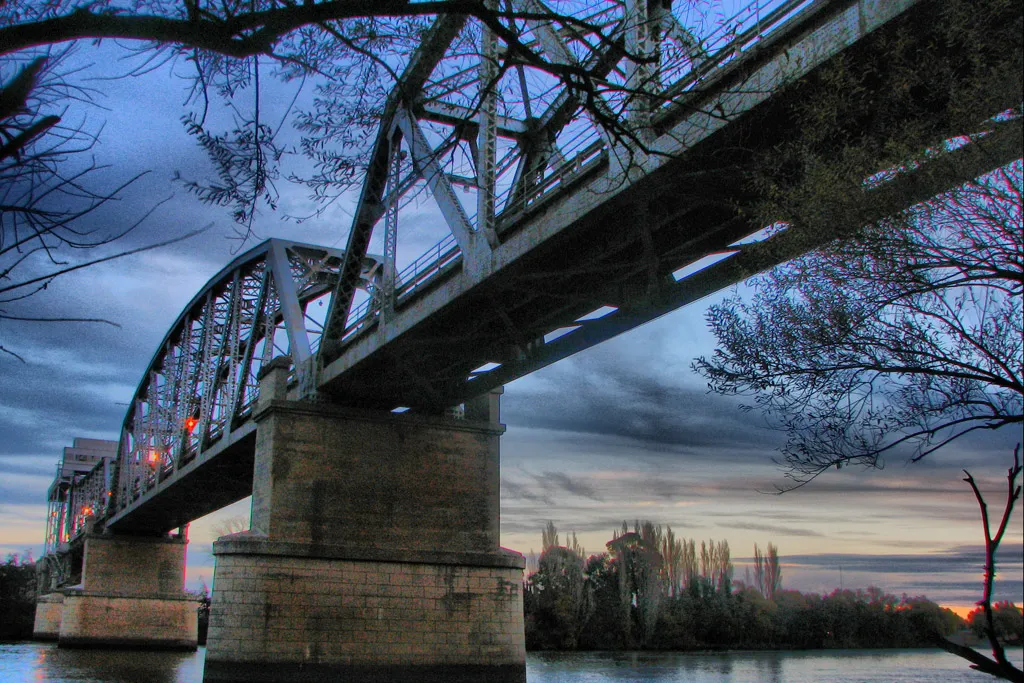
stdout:
[[(696, 5), (694, 14), (702, 24), (706, 17)], [(455, 36), (443, 55), (444, 63), (423, 92), (399, 93), (407, 103), (422, 106), (440, 97), (451, 103), (454, 98), (460, 108), (457, 118), (463, 119), (457, 135), (462, 135), (492, 95), (497, 96), (501, 114), (528, 119), (550, 103), (548, 94), (565, 87), (572, 93), (569, 117), (583, 110), (611, 137), (647, 150), (644, 136), (624, 112), (638, 98), (651, 97), (648, 91), (657, 75), (641, 82), (613, 70), (614, 62), (624, 57), (637, 63), (651, 58), (630, 52), (624, 32), (616, 33), (607, 20), (613, 10), (621, 11), (621, 7), (597, 0), (548, 4), (14, 0), (0, 9), (0, 58), (34, 54), (69, 41), (113, 39), (141, 57), (137, 71), (173, 63), (176, 73), (191, 84), (190, 106), (182, 121), (218, 169), (218, 178), (212, 182), (182, 181), (201, 200), (230, 207), (239, 222), (251, 225), (260, 200), (271, 207), (276, 202), (276, 182), (282, 179), (278, 162), (293, 146), (282, 142), (286, 123), (302, 134), (296, 146), (314, 169), (310, 174), (289, 174), (288, 179), (306, 185), (313, 197), (326, 201), (361, 182), (377, 126), (395, 103), (389, 101), (389, 93), (417, 50), (424, 49), (428, 29), (441, 16), (473, 22)], [(665, 36), (660, 51), (687, 59), (699, 51), (694, 38), (663, 18), (669, 16), (668, 9), (651, 11), (655, 18), (650, 30), (659, 38)], [(545, 48), (545, 41), (527, 28), (539, 24), (549, 25), (571, 45), (551, 52), (551, 46)], [(501, 43), (486, 77), (476, 69), (483, 31)], [(609, 48), (613, 48), (612, 63), (601, 56)], [(535, 89), (540, 84), (542, 94), (534, 93), (536, 112), (524, 90), (527, 80)], [(301, 106), (293, 100), (283, 118), (271, 118), (262, 100), (266, 85), (273, 81), (294, 86), (296, 100), (304, 88), (312, 90), (312, 97), (304, 97)], [(233, 113), (223, 131), (218, 130), (222, 122), (212, 116), (211, 104), (218, 100), (229, 104)], [(547, 142), (538, 140), (539, 144)]]

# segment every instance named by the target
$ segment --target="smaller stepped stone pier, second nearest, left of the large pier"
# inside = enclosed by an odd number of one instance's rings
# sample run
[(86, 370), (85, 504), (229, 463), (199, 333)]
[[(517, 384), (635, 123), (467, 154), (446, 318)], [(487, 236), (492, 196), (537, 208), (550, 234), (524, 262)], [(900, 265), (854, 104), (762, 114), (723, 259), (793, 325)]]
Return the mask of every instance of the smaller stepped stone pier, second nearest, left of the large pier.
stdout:
[(196, 649), (184, 560), (183, 537), (87, 533), (82, 587), (65, 591), (57, 645)]

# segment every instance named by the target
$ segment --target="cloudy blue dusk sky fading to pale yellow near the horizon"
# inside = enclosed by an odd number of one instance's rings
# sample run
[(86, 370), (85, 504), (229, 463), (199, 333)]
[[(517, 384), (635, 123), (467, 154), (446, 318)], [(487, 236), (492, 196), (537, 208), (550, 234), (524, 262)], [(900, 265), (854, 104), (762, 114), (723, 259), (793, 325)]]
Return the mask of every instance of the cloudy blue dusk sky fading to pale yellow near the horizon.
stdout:
[[(173, 177), (211, 168), (179, 122), (185, 92), (173, 69), (108, 80), (128, 65), (112, 45), (82, 55), (94, 68), (97, 105), (74, 110), (103, 123), (97, 161), (108, 182), (148, 170), (91, 219), (98, 229), (143, 224), (118, 246), (130, 249), (206, 227), (199, 237), (55, 281), (31, 299), (45, 315), (104, 317), (120, 327), (0, 322), (0, 556), (44, 537), (46, 488), (61, 449), (76, 436), (117, 439), (126, 403), (157, 345), (187, 301), (240, 250), (227, 210), (188, 196)], [(114, 65), (113, 67), (111, 65)], [(284, 106), (281, 92), (268, 109)], [(352, 201), (315, 218), (305, 190), (279, 182), (276, 212), (256, 222), (259, 239), (344, 247)], [(403, 210), (399, 261), (433, 244), (439, 221), (428, 199)], [(258, 240), (257, 240), (258, 241)], [(248, 248), (256, 244), (244, 245)], [(373, 250), (373, 249), (372, 249)], [(399, 262), (399, 266), (400, 263)], [(703, 315), (720, 293), (506, 386), (502, 419), (502, 544), (539, 551), (548, 520), (601, 552), (624, 520), (650, 519), (677, 536), (727, 540), (742, 579), (754, 544), (775, 544), (783, 586), (830, 592), (878, 586), (925, 594), (961, 609), (980, 597), (984, 561), (977, 503), (962, 481), (968, 468), (1001, 509), (1006, 469), (1020, 434), (1004, 431), (954, 443), (918, 464), (893, 459), (883, 470), (828, 472), (775, 495), (773, 463), (782, 435), (738, 401), (709, 393), (690, 366), (713, 352)], [(28, 305), (28, 304), (27, 304)], [(25, 310), (25, 309), (23, 309)], [(1000, 551), (996, 598), (1024, 602), (1020, 508)], [(245, 524), (240, 502), (193, 523), (187, 584), (211, 584), (211, 543)]]

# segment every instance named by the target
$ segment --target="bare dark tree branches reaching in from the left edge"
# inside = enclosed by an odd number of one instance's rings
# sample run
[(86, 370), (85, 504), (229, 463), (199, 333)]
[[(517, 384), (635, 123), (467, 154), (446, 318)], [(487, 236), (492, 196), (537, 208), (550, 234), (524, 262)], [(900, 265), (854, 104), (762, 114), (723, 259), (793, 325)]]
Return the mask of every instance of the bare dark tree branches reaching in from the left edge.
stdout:
[[(65, 48), (0, 56), (0, 321), (8, 322), (2, 326), (7, 334), (10, 324), (114, 325), (41, 315), (26, 300), (60, 275), (176, 241), (96, 255), (137, 227), (152, 209), (110, 229), (87, 224), (86, 218), (144, 174), (111, 180), (109, 169), (90, 158), (98, 129), (71, 120), (67, 112), (69, 101), (91, 99), (89, 90), (69, 81), (70, 53)], [(2, 338), (0, 354), (24, 360)]]

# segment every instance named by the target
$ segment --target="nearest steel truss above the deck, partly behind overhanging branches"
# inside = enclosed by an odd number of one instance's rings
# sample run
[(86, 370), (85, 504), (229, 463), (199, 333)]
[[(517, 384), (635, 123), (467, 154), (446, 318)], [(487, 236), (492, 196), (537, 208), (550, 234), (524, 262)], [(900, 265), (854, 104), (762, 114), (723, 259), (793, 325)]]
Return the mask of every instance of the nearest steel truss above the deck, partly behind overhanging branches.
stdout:
[[(649, 0), (486, 0), (495, 22), (439, 16), (384, 108), (318, 367), (388, 326), (428, 280), (456, 265), (490, 267), (513, 224), (584, 176), (645, 172), (647, 144), (689, 111), (709, 75), (811, 3), (756, 0), (729, 13), (717, 2), (697, 11)], [(424, 189), (449, 234), (398, 263), (401, 209)], [(381, 288), (358, 302), (379, 223)]]

